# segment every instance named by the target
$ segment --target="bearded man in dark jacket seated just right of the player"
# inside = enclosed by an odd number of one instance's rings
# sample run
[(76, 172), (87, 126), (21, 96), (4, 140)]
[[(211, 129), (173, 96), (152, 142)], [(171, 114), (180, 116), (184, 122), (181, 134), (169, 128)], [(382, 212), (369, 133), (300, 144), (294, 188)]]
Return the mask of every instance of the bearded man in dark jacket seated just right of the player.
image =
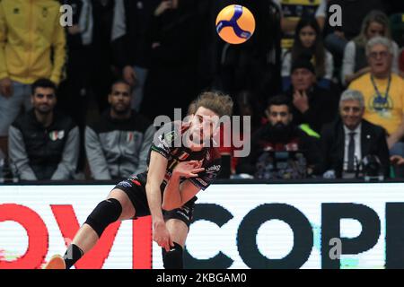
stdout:
[(240, 159), (237, 172), (261, 179), (306, 178), (320, 161), (316, 138), (294, 126), (287, 97), (272, 97), (268, 113), (268, 124), (252, 135), (250, 155)]

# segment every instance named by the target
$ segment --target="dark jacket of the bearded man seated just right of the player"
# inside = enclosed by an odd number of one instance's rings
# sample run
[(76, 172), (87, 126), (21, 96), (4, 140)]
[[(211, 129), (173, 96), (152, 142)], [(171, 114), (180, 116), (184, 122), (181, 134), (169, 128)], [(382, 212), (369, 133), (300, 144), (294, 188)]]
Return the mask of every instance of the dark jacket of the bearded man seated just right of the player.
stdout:
[(241, 158), (237, 166), (238, 173), (248, 173), (254, 175), (257, 171), (259, 157), (268, 151), (282, 152), (302, 152), (308, 166), (315, 166), (320, 162), (320, 152), (317, 139), (306, 135), (301, 129), (293, 126), (285, 140), (279, 142), (273, 137), (267, 124), (259, 128), (251, 138), (251, 152), (246, 158)]

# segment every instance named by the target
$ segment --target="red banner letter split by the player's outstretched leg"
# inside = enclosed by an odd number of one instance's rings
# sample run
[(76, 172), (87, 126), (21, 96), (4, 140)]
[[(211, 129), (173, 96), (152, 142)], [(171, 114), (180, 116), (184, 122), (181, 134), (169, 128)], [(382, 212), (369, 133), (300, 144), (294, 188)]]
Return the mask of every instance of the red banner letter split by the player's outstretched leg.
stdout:
[[(79, 230), (80, 225), (75, 216), (72, 205), (50, 205), (52, 212), (57, 220), (59, 230), (65, 239), (73, 240), (75, 233)], [(105, 259), (110, 254), (110, 248), (114, 243), (115, 237), (119, 230), (120, 222), (110, 224), (110, 226), (102, 233), (101, 239), (91, 251), (85, 254), (76, 264), (76, 269), (101, 269)], [(65, 240), (66, 241), (66, 240)], [(66, 242), (66, 247), (69, 242)]]

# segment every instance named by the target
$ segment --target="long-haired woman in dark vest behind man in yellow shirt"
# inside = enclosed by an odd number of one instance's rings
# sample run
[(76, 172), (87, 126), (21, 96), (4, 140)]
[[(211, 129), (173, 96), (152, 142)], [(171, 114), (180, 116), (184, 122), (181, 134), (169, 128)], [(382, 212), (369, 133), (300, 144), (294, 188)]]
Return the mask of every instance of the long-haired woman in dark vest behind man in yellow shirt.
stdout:
[[(341, 82), (349, 84), (359, 78), (361, 75), (369, 73), (370, 67), (367, 64), (364, 47), (369, 39), (375, 36), (387, 37), (391, 39), (389, 29), (389, 18), (385, 13), (374, 10), (367, 14), (362, 23), (362, 29), (359, 36), (350, 40), (344, 51), (342, 61)], [(392, 71), (399, 73), (399, 46), (392, 41), (393, 63)]]

